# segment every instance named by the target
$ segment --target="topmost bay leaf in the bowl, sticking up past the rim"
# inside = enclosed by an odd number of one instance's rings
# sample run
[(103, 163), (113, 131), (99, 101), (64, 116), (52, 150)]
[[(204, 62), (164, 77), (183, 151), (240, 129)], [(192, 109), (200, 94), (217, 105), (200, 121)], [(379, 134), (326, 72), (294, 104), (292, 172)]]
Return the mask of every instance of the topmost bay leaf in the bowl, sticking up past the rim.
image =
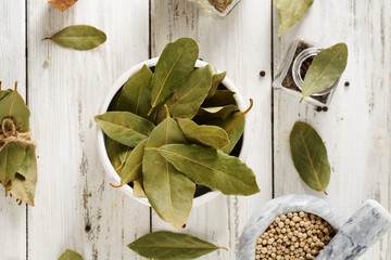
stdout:
[(198, 44), (191, 38), (180, 38), (164, 48), (152, 78), (152, 109), (185, 82), (194, 69), (198, 55)]

